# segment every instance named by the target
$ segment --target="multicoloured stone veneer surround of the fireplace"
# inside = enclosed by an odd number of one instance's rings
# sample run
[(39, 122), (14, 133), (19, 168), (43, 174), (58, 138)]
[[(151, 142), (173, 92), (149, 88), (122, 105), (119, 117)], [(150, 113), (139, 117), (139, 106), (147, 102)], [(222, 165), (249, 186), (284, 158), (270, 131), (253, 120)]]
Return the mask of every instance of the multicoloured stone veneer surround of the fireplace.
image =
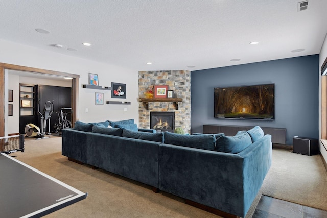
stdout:
[(144, 93), (154, 85), (168, 85), (174, 91), (174, 98), (181, 98), (178, 110), (172, 102), (149, 102), (149, 110), (143, 102), (139, 102), (139, 128), (150, 129), (151, 111), (174, 111), (175, 128), (181, 127), (191, 132), (191, 72), (188, 70), (161, 70), (138, 72), (138, 95), (145, 98)]

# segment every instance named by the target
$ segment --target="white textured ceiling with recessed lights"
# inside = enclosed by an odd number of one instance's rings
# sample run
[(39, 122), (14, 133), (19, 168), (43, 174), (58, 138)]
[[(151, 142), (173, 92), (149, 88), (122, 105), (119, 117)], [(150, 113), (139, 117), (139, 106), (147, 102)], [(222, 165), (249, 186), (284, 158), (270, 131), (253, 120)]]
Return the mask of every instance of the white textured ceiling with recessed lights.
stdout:
[[(192, 71), (319, 54), (327, 1), (309, 0), (308, 10), (300, 12), (298, 2), (2, 0), (0, 39), (135, 71)], [(296, 49), (304, 51), (291, 52)]]

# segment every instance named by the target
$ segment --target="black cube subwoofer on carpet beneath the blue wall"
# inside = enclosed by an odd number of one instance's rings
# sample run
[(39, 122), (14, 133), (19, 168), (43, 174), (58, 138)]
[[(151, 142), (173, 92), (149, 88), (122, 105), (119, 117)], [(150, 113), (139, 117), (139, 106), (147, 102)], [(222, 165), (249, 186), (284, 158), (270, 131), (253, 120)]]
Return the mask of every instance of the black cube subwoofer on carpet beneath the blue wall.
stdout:
[(293, 152), (303, 155), (319, 154), (319, 142), (316, 138), (293, 138)]

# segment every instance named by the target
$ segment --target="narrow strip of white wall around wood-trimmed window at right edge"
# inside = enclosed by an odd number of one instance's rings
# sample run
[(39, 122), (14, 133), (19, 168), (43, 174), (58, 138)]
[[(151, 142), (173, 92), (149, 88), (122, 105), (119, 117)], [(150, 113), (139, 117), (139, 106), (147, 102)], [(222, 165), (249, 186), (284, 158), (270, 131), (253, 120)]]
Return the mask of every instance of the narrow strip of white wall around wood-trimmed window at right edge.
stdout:
[[(327, 58), (327, 35), (325, 37), (325, 40), (323, 42), (323, 45), (321, 47), (321, 51), (319, 54), (319, 108), (321, 108), (321, 71), (320, 68)], [(325, 76), (327, 77), (327, 76)], [(319, 110), (319, 136), (321, 136), (321, 111)], [(320, 144), (320, 153), (322, 154), (322, 157), (327, 162), (327, 151), (324, 149), (323, 145)]]

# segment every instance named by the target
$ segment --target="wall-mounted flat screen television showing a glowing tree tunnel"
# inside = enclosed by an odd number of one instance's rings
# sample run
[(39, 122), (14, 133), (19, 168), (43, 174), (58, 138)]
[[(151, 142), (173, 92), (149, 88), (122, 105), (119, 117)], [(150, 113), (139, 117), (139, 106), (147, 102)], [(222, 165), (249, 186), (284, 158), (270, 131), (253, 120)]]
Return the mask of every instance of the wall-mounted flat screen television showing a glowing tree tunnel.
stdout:
[(215, 88), (215, 118), (275, 118), (275, 84)]

